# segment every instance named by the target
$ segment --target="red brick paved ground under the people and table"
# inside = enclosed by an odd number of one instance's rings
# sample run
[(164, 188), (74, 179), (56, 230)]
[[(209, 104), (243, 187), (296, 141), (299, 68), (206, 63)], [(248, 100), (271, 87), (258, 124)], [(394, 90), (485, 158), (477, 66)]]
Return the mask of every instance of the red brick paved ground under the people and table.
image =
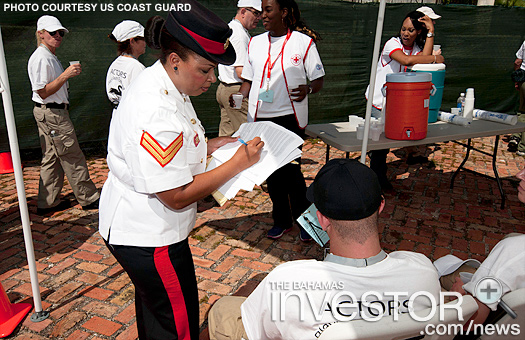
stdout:
[[(475, 144), (490, 150), (493, 138), (477, 139)], [(504, 234), (525, 232), (525, 209), (517, 200), (513, 178), (525, 162), (506, 152), (504, 142), (500, 144), (497, 166), (507, 193), (503, 210), (499, 209), (496, 183), (484, 177), (462, 173), (454, 189), (449, 189), (463, 147), (453, 143), (427, 147), (435, 167), (408, 166), (390, 153), (389, 177), (395, 191), (386, 195), (380, 218), (383, 247), (422, 252), (431, 259), (453, 253), (483, 260)], [(303, 151), (303, 170), (310, 184), (324, 164), (325, 145), (310, 140)], [(331, 156), (343, 154), (333, 152)], [(476, 154), (467, 166), (487, 174), (492, 168), (487, 157)], [(101, 188), (108, 171), (104, 158), (91, 158), (89, 167)], [(25, 164), (42, 301), (51, 315), (40, 323), (26, 318), (9, 339), (136, 339), (133, 287), (97, 233), (97, 211), (85, 212), (77, 204), (53, 216), (36, 215), (38, 171), (38, 162)], [(69, 185), (63, 194), (74, 199)], [(223, 207), (210, 199), (199, 202), (190, 244), (199, 287), (201, 339), (208, 339), (206, 314), (218, 298), (249, 294), (266, 273), (284, 261), (321, 258), (317, 245), (299, 240), (297, 227), (278, 241), (267, 239), (270, 211), (269, 197), (259, 188), (239, 194)], [(0, 175), (0, 261), (0, 281), (10, 300), (31, 302), (12, 174)]]

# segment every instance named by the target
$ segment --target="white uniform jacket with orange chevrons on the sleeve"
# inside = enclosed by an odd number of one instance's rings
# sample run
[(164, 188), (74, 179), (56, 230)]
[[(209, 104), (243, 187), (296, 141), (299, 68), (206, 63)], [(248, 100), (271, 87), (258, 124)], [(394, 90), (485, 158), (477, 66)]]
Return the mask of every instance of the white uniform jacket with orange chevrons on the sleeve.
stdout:
[(183, 186), (204, 172), (206, 149), (204, 128), (189, 97), (157, 61), (133, 81), (111, 120), (110, 171), (100, 199), (102, 237), (140, 247), (187, 238), (197, 204), (174, 210), (155, 193)]

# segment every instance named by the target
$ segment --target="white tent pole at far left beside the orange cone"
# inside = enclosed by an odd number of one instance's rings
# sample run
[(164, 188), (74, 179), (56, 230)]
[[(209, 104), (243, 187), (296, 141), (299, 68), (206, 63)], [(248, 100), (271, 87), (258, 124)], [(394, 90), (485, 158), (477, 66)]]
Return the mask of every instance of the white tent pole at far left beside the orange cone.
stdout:
[(31, 279), (31, 288), (33, 291), (33, 302), (35, 312), (31, 320), (39, 322), (47, 319), (49, 312), (42, 311), (42, 300), (40, 297), (40, 287), (36, 270), (35, 251), (33, 248), (33, 237), (31, 236), (31, 223), (29, 220), (29, 211), (27, 208), (26, 192), (24, 188), (24, 176), (22, 173), (22, 162), (20, 160), (20, 150), (18, 148), (18, 137), (16, 134), (16, 124), (13, 113), (13, 102), (11, 100), (11, 89), (9, 87), (9, 77), (7, 74), (7, 64), (5, 61), (4, 42), (2, 40), (2, 31), (0, 28), (0, 93), (4, 103), (4, 114), (7, 126), (7, 135), (9, 137), (9, 147), (13, 159), (13, 169), (15, 172), (16, 191), (18, 193), (18, 206), (20, 217), (22, 219), (22, 230), (24, 232), (24, 241), (26, 246), (27, 264), (29, 267), (29, 277)]

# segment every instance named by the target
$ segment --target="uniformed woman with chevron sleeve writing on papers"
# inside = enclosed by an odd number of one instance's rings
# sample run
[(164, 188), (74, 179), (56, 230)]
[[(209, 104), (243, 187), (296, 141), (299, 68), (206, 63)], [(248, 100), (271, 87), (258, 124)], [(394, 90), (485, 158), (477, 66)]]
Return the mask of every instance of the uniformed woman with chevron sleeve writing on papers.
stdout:
[(144, 339), (198, 339), (199, 301), (188, 235), (197, 201), (260, 158), (260, 138), (222, 166), (204, 172), (206, 156), (236, 141), (208, 143), (190, 96), (231, 64), (231, 30), (196, 1), (190, 11), (156, 16), (146, 26), (160, 60), (126, 90), (108, 141), (110, 172), (101, 198), (99, 232), (135, 285), (138, 334)]

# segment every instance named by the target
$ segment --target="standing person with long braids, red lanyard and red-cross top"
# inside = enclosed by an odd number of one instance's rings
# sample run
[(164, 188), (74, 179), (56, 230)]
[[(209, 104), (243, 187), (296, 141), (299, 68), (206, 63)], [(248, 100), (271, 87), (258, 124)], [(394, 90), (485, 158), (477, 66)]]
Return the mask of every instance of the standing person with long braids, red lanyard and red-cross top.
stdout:
[[(307, 96), (322, 89), (325, 75), (315, 46), (319, 35), (304, 25), (295, 0), (263, 0), (262, 10), (268, 32), (251, 39), (242, 71), (245, 81), (240, 93), (249, 97), (248, 122), (272, 121), (304, 138)], [(300, 161), (283, 166), (266, 181), (274, 220), (269, 238), (278, 239), (290, 231), (310, 205)], [(303, 229), (300, 237), (311, 240)]]

